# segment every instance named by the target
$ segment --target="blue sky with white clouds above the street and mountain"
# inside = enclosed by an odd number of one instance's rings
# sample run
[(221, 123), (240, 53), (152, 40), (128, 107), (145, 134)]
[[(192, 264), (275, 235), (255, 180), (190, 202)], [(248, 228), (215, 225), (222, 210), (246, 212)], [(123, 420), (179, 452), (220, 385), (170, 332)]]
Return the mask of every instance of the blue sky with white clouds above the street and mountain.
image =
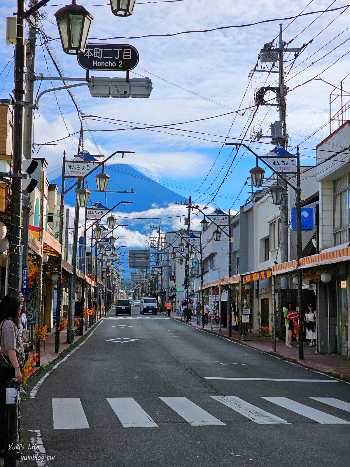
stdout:
[[(89, 35), (91, 42), (114, 36), (128, 37), (104, 42), (131, 43), (136, 47), (140, 54), (140, 62), (130, 76), (149, 77), (154, 84), (149, 99), (97, 99), (91, 97), (86, 87), (73, 90), (85, 117), (84, 148), (91, 154), (97, 154), (98, 150), (106, 156), (115, 150), (134, 151), (134, 154), (126, 155), (124, 159), (120, 156), (113, 158), (112, 164), (129, 164), (141, 174), (179, 194), (179, 198), (192, 195), (196, 202), (209, 203), (224, 210), (232, 205), (233, 209), (239, 208), (249, 196), (249, 184), (244, 188), (243, 186), (249, 170), (255, 165), (255, 160), (253, 156), (243, 154), (243, 151), (239, 151), (234, 158), (235, 152), (231, 154), (231, 148), (222, 148), (222, 144), (227, 136), (227, 141), (230, 142), (235, 142), (235, 138), (240, 137), (250, 140), (251, 134), (257, 131), (260, 125), (266, 134), (271, 122), (278, 119), (275, 107), (262, 107), (253, 118), (252, 110), (246, 107), (253, 105), (257, 88), (265, 82), (275, 85), (276, 75), (248, 75), (257, 62), (262, 46), (278, 36), (279, 23), (282, 22), (286, 42), (292, 41), (293, 47), (308, 44), (295, 62), (294, 54), (286, 56), (286, 83), (290, 89), (287, 96), (287, 123), (291, 147), (298, 143), (301, 146), (302, 163), (315, 163), (315, 145), (329, 134), (327, 120), (331, 85), (337, 85), (350, 71), (347, 42), (349, 10), (312, 14), (295, 20), (272, 21), (246, 28), (228, 28), (168, 37), (129, 37), (284, 18), (301, 12), (341, 7), (345, 2), (222, 0), (210, 3), (208, 8), (208, 2), (205, 0), (155, 3), (137, 1), (134, 14), (128, 18), (113, 16), (106, 0), (83, 0), (81, 3), (95, 18)], [(63, 4), (62, 1), (51, 0), (41, 10), (40, 28), (53, 39), (58, 37), (54, 13)], [(0, 2), (3, 21), (6, 16), (12, 16), (15, 5), (15, 1)], [(13, 89), (14, 50), (12, 46), (6, 45), (5, 28), (2, 30), (4, 32), (0, 48), (0, 96), (7, 98)], [(312, 42), (308, 43), (311, 40)], [(41, 42), (39, 39), (36, 72), (42, 72), (44, 76), (58, 76), (48, 51)], [(65, 76), (85, 76), (85, 71), (77, 64), (76, 57), (64, 54), (59, 41), (49, 41), (49, 45)], [(111, 73), (91, 74), (108, 76)], [(125, 73), (115, 72), (111, 76), (122, 77)], [(316, 76), (319, 78), (312, 79)], [(308, 80), (311, 81), (303, 84)], [(38, 87), (39, 85), (36, 85), (36, 90)], [(42, 82), (40, 91), (50, 87), (49, 81)], [(350, 88), (347, 81), (344, 88)], [(335, 103), (334, 111), (339, 105)], [(235, 113), (238, 109), (239, 112)], [(50, 180), (56, 181), (61, 172), (60, 160), (63, 150), (66, 151), (67, 157), (77, 152), (77, 132), (80, 129), (77, 111), (66, 91), (58, 91), (56, 96), (50, 92), (41, 98), (35, 119), (34, 142), (55, 144), (35, 148), (40, 148), (38, 156), (48, 160)], [(200, 119), (206, 120), (182, 124)], [(86, 124), (91, 129), (98, 149), (91, 134), (87, 132)], [(150, 125), (163, 125), (167, 128), (135, 129)], [(323, 125), (325, 126), (322, 130), (309, 137)], [(268, 142), (269, 140), (253, 142), (251, 147), (264, 154), (272, 148)], [(128, 190), (130, 178), (123, 179), (120, 173), (113, 172), (112, 166), (111, 169), (110, 175), (115, 178), (112, 183), (118, 183)], [(141, 182), (140, 178), (134, 177), (135, 191), (137, 184)], [(217, 196), (214, 198), (216, 192)], [(159, 198), (152, 199), (142, 192), (132, 196), (138, 199), (135, 203), (137, 206), (133, 210), (131, 205), (127, 211), (133, 212), (135, 218), (148, 219), (148, 216), (154, 216), (154, 222), (157, 222), (156, 218), (166, 217), (165, 227), (175, 228), (179, 225), (183, 212), (181, 208), (174, 206), (176, 195), (171, 200), (170, 207), (164, 203), (162, 205)], [(112, 204), (114, 199), (121, 198), (108, 195), (108, 205)], [(144, 241), (149, 224), (150, 221), (147, 220), (142, 225), (140, 223), (130, 228), (130, 246), (133, 242), (139, 246), (139, 243)]]

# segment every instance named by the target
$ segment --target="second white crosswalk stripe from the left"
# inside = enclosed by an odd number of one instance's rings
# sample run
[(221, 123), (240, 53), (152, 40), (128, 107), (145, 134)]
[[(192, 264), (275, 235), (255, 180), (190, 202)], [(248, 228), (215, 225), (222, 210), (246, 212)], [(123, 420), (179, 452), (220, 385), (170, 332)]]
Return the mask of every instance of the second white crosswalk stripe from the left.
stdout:
[(106, 399), (125, 428), (158, 426), (133, 397)]

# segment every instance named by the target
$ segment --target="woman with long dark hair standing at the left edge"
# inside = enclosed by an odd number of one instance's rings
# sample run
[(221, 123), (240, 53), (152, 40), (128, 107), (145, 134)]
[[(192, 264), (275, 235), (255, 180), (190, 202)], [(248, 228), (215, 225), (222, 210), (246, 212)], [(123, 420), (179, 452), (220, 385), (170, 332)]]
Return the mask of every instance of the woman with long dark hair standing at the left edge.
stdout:
[[(0, 451), (5, 449), (6, 383), (10, 378), (16, 378), (19, 384), (22, 382), (20, 365), (24, 361), (24, 348), (19, 331), (21, 308), (19, 297), (14, 295), (5, 295), (0, 302)], [(7, 365), (9, 368), (5, 368)]]

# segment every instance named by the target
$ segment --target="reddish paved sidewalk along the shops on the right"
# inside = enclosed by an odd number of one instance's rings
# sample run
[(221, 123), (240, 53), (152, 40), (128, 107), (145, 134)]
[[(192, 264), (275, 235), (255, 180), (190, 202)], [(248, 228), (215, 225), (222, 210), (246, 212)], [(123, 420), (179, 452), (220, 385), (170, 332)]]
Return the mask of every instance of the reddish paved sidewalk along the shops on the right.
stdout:
[[(180, 321), (180, 317), (175, 313), (172, 313), (171, 316), (172, 318), (178, 319)], [(192, 317), (191, 321), (187, 324), (198, 329), (202, 329), (202, 324), (196, 324), (196, 317)], [(210, 321), (204, 329), (206, 332), (211, 332)], [(247, 337), (250, 338), (250, 340), (239, 341), (238, 331), (232, 330), (232, 337), (229, 338), (229, 330), (223, 326), (221, 328), (221, 334), (219, 334), (219, 325), (214, 323), (212, 333), (221, 335), (228, 339), (232, 339), (249, 347), (254, 347), (256, 349), (262, 350), (263, 352), (276, 354), (282, 358), (285, 358), (286, 360), (296, 361), (305, 367), (313, 368), (315, 370), (329, 373), (333, 376), (350, 381), (350, 360), (342, 355), (318, 354), (315, 350), (316, 347), (309, 347), (308, 341), (304, 342), (304, 360), (299, 360), (299, 347), (286, 347), (285, 342), (280, 342), (277, 340), (276, 352), (273, 352), (272, 341), (270, 337), (259, 337), (256, 334), (248, 334)], [(293, 345), (295, 345), (295, 341), (293, 341)]]

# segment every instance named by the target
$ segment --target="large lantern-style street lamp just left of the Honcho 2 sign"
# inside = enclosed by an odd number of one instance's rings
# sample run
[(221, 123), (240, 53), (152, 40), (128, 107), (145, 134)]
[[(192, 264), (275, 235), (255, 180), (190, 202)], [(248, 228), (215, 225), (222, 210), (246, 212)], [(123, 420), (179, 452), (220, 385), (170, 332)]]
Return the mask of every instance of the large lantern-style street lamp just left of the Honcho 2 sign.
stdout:
[(84, 7), (77, 5), (76, 0), (72, 0), (72, 5), (60, 8), (54, 16), (63, 52), (70, 55), (84, 53), (94, 17)]

